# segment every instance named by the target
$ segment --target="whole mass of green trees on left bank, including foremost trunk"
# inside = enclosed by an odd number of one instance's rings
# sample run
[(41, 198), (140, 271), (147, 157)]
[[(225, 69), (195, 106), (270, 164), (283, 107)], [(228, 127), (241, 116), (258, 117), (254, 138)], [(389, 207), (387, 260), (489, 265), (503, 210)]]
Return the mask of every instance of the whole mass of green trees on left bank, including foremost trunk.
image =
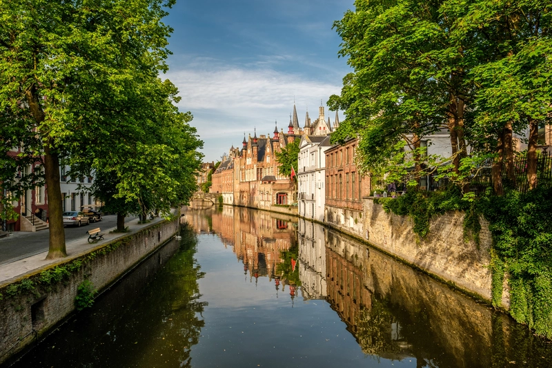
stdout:
[[(152, 206), (166, 209), (190, 192), (198, 158), (192, 151), (201, 143), (187, 124), (191, 115), (172, 104), (176, 88), (157, 77), (167, 70), (172, 30), (161, 19), (173, 2), (2, 2), (1, 186), (36, 185), (13, 178), (28, 162), (43, 164), (48, 258), (66, 254), (62, 158), (70, 176), (95, 169), (115, 175), (119, 195), (140, 206), (149, 195)], [(8, 151), (17, 146), (23, 151), (14, 157)], [(3, 200), (2, 215), (9, 212), (10, 201)]]

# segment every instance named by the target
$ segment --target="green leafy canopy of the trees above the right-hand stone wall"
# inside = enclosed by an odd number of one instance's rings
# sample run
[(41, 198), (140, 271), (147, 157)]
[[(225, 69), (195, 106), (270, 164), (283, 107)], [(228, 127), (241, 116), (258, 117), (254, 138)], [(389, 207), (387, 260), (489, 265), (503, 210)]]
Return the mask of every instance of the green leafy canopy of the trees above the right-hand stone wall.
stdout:
[[(506, 162), (512, 176), (513, 133), (530, 128), (535, 165), (536, 128), (552, 111), (550, 10), (525, 0), (356, 1), (334, 23), (353, 72), (328, 101), (346, 114), (333, 141), (358, 134), (366, 171), (393, 172), (402, 154), (402, 171), (440, 168), (466, 192), (489, 157), (495, 174)], [(436, 132), (450, 135), (450, 154), (428, 159), (419, 142)]]

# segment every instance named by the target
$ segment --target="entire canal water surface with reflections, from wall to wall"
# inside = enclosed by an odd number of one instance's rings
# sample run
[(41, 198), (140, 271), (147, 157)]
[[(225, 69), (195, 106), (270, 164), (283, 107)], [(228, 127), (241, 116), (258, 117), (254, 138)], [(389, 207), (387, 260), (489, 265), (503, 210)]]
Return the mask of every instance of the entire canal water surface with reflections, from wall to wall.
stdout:
[(225, 206), (13, 367), (552, 367), (504, 313), (319, 224)]

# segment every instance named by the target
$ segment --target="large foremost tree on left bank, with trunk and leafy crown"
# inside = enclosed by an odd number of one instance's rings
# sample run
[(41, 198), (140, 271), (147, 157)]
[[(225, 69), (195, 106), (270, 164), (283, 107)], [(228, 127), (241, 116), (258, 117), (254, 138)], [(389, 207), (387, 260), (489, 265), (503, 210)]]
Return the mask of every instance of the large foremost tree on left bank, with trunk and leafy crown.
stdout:
[[(128, 94), (141, 77), (166, 70), (171, 29), (161, 23), (168, 0), (3, 2), (0, 15), (2, 123), (10, 139), (43, 163), (50, 218), (47, 258), (66, 255), (59, 160), (88, 154), (112, 117), (132, 108)], [(116, 119), (119, 122), (120, 119)], [(128, 120), (126, 124), (132, 124)], [(117, 128), (111, 130), (117, 134)], [(11, 146), (3, 146), (3, 153)], [(2, 177), (18, 159), (3, 156)], [(72, 174), (90, 171), (75, 166)], [(6, 182), (2, 186), (5, 187)]]

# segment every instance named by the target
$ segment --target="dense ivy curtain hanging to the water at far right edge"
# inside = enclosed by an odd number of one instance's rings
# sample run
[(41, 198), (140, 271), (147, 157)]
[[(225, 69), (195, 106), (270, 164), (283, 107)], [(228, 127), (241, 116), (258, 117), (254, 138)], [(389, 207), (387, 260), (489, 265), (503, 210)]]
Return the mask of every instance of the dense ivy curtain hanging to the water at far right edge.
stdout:
[(493, 304), (502, 304), (509, 275), (510, 313), (517, 322), (552, 338), (552, 188), (484, 196), (479, 211), (493, 234)]

